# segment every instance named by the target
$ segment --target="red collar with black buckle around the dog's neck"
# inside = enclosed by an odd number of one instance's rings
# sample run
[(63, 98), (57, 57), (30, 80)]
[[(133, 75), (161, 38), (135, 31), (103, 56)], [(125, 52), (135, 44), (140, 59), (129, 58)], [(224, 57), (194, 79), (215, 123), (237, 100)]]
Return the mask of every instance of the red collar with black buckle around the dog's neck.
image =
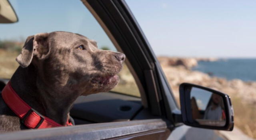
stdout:
[[(12, 111), (22, 119), (22, 123), (28, 128), (52, 128), (62, 126), (52, 119), (45, 117), (32, 109), (27, 103), (25, 103), (12, 89), (10, 82), (2, 90), (2, 98), (4, 102), (12, 109)], [(65, 126), (72, 125), (67, 121)]]

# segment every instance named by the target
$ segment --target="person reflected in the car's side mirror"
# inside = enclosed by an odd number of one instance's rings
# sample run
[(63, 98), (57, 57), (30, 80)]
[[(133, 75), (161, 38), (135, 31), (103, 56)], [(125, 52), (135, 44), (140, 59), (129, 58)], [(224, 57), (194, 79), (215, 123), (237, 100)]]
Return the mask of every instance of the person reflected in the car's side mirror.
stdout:
[(208, 105), (204, 113), (203, 119), (216, 120), (216, 121), (222, 121), (225, 119), (225, 113), (223, 110), (223, 101), (220, 95), (216, 93), (212, 93), (210, 104)]

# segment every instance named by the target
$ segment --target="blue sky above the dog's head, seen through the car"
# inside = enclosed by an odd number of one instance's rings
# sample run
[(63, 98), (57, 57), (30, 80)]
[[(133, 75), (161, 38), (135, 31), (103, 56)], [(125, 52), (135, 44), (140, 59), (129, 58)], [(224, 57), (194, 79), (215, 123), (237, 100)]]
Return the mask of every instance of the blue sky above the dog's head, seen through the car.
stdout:
[(19, 21), (0, 24), (0, 39), (26, 39), (36, 33), (69, 31), (97, 41), (98, 46), (114, 45), (80, 0), (10, 0)]

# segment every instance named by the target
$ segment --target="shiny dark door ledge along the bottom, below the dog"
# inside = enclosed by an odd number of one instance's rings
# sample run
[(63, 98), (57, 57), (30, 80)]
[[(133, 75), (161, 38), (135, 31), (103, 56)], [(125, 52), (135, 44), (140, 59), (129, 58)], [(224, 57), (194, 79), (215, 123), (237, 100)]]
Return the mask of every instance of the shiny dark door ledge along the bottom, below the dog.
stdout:
[[(1, 134), (2, 140), (104, 140), (134, 138), (162, 133), (168, 137), (170, 124), (162, 119), (84, 124)], [(150, 140), (150, 139), (149, 139)]]

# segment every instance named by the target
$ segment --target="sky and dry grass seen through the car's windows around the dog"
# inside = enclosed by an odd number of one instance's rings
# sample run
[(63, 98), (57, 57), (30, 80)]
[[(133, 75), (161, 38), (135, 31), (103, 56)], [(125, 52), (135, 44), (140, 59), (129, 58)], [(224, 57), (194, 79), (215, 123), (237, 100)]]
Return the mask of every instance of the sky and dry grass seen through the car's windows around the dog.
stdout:
[[(10, 0), (10, 3), (16, 10), (19, 21), (0, 24), (0, 78), (11, 78), (18, 68), (15, 58), (20, 53), (26, 37), (36, 33), (52, 31), (79, 33), (95, 40), (100, 49), (116, 51), (102, 27), (80, 0), (72, 2)], [(111, 91), (140, 97), (134, 77), (126, 64), (119, 77), (119, 84)]]

